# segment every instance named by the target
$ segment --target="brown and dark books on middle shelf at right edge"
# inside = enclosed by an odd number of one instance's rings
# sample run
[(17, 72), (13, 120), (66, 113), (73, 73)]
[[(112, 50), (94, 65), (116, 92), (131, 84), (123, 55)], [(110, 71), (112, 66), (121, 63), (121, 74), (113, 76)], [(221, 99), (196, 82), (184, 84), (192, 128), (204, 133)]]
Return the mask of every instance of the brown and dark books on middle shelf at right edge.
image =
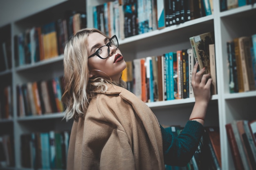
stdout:
[(256, 34), (227, 42), (229, 92), (256, 89)]

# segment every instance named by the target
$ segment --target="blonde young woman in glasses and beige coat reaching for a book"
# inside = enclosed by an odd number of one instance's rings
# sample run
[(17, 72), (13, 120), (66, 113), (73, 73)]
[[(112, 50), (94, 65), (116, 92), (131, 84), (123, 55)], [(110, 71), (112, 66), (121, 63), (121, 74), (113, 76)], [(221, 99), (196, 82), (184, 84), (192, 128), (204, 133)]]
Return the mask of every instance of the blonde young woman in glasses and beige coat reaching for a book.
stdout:
[[(199, 144), (211, 78), (193, 68), (195, 105), (178, 137), (168, 134), (150, 108), (126, 90), (124, 56), (114, 35), (82, 29), (65, 45), (65, 119), (74, 119), (67, 170), (164, 170), (185, 166)], [(208, 80), (207, 80), (208, 79)]]

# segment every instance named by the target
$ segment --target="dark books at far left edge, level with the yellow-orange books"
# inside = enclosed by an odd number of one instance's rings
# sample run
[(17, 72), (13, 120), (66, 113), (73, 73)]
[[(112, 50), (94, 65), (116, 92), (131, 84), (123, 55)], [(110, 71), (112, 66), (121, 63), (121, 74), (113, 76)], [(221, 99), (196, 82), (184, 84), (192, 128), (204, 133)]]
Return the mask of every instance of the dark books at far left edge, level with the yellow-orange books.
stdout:
[(0, 43), (0, 71), (10, 70), (11, 65), (11, 40)]

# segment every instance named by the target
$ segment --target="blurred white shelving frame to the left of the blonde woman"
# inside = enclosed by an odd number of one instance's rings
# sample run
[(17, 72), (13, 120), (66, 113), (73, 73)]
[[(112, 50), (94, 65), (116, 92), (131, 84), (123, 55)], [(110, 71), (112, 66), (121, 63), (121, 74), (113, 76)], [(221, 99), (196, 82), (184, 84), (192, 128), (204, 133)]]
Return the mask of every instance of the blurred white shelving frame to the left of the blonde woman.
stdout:
[[(12, 2), (10, 2), (11, 4)], [(17, 2), (19, 3), (19, 2)], [(16, 3), (16, 5), (17, 5)], [(68, 131), (71, 130), (72, 122), (62, 120), (63, 112), (53, 112), (45, 115), (38, 116), (18, 116), (18, 102), (17, 102), (17, 85), (26, 84), (28, 82), (35, 82), (39, 80), (53, 79), (63, 75), (63, 54), (34, 62), (32, 64), (23, 64), (16, 66), (17, 51), (15, 51), (14, 37), (19, 33), (24, 33), (27, 29), (34, 26), (43, 26), (49, 22), (58, 19), (64, 19), (69, 16), (71, 11), (85, 12), (84, 0), (57, 0), (46, 2), (31, 2), (30, 0), (22, 2), (21, 7), (26, 6), (28, 10), (24, 10), (17, 15), (16, 18), (9, 17), (8, 24), (4, 23), (0, 26), (0, 40), (2, 42), (11, 40), (11, 61), (12, 67), (0, 72), (0, 90), (1, 95), (5, 86), (11, 86), (12, 91), (12, 110), (11, 116), (8, 118), (1, 117), (0, 119), (0, 136), (10, 135), (13, 136), (13, 159), (14, 165), (8, 167), (1, 167), (2, 169), (27, 169), (22, 167), (21, 156), (21, 140), (20, 136), (23, 134), (31, 134), (32, 132), (49, 132), (55, 131)], [(6, 4), (6, 7), (9, 5)], [(35, 7), (33, 7), (35, 6)], [(39, 7), (39, 9), (38, 9)], [(15, 7), (13, 7), (15, 8)], [(10, 9), (9, 9), (10, 10)], [(19, 9), (17, 9), (18, 11)], [(57, 11), (57, 12), (56, 12)], [(67, 16), (68, 15), (68, 16)], [(2, 154), (2, 153), (1, 153)]]

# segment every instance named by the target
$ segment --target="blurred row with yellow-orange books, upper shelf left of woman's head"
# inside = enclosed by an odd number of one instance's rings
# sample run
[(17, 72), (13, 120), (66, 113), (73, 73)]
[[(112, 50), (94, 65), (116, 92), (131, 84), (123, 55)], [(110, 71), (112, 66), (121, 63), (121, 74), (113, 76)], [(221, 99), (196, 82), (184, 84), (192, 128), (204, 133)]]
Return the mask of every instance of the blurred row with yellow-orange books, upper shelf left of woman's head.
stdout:
[(74, 13), (68, 18), (34, 26), (15, 35), (15, 66), (33, 64), (63, 54), (69, 37), (85, 27), (85, 13)]

